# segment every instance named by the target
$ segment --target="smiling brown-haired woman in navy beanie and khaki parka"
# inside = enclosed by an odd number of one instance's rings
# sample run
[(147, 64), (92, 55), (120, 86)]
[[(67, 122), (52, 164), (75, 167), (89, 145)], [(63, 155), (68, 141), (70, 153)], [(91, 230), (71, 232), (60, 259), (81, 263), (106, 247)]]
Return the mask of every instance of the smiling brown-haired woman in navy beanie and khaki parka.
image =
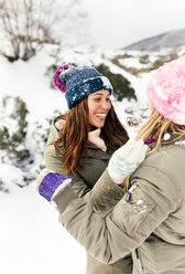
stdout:
[[(107, 77), (90, 66), (58, 67), (54, 85), (65, 93), (69, 110), (52, 124), (44, 154), (46, 167), (73, 179), (77, 196), (104, 217), (122, 198), (123, 189), (107, 185), (102, 173), (112, 152), (129, 139), (110, 101), (113, 88)], [(100, 181), (106, 185), (105, 191)], [(110, 274), (116, 270), (130, 274), (131, 268), (130, 255), (106, 265), (87, 254), (87, 274)]]

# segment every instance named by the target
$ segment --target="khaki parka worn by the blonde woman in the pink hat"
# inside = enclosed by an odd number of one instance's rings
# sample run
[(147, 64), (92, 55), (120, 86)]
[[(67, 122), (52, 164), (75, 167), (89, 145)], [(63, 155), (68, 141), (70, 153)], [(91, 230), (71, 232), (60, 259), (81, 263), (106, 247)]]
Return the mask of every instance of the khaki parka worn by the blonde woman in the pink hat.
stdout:
[[(108, 180), (107, 170), (102, 177)], [(61, 223), (100, 262), (111, 264), (132, 252), (133, 274), (185, 273), (183, 143), (148, 155), (128, 193), (106, 218), (92, 213), (70, 186), (54, 202)]]

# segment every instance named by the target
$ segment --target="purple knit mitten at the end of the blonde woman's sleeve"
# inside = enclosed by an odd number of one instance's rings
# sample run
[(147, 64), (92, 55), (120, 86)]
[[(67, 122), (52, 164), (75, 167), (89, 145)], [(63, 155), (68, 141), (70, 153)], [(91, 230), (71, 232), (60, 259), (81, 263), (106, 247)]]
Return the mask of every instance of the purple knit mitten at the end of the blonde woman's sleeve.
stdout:
[(64, 185), (64, 187), (72, 182), (70, 178), (64, 177), (59, 173), (50, 172), (42, 180), (39, 192), (43, 196), (47, 201), (51, 201), (56, 189)]

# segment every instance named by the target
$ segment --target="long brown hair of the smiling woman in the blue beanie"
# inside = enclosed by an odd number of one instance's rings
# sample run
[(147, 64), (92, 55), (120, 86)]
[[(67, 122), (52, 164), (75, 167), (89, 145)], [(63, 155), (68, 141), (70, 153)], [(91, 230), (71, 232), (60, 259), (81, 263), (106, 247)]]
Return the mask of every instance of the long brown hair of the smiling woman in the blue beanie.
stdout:
[[(76, 172), (77, 168), (83, 168), (80, 162), (81, 154), (86, 159), (88, 148), (88, 104), (87, 97), (70, 108), (59, 119), (64, 119), (64, 126), (61, 129), (59, 138), (55, 141), (55, 149), (63, 157), (63, 165), (66, 175), (70, 171)], [(105, 140), (108, 148), (116, 150), (124, 145), (129, 139), (126, 128), (120, 123), (113, 106), (106, 117), (105, 126), (101, 128), (101, 138)], [(59, 150), (58, 145), (62, 143), (63, 152)]]

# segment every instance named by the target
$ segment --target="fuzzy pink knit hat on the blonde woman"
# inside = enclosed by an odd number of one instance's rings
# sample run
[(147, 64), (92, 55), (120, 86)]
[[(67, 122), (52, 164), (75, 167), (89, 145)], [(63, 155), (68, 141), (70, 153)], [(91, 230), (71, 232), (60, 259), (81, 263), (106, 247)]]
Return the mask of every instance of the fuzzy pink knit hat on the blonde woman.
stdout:
[(164, 118), (185, 125), (185, 56), (161, 66), (146, 92), (152, 106)]

